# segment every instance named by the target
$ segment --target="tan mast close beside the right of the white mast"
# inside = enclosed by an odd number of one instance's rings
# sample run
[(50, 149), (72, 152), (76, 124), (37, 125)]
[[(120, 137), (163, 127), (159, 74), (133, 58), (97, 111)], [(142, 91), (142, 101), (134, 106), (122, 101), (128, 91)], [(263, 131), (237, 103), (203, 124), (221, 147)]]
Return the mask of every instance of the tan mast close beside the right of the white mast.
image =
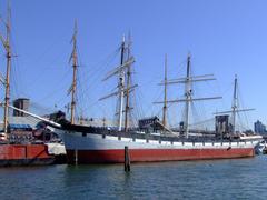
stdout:
[[(127, 60), (130, 59), (130, 46), (131, 46), (131, 39), (129, 36), (128, 39), (128, 47), (127, 47)], [(125, 131), (128, 132), (128, 116), (129, 116), (129, 111), (130, 111), (130, 79), (131, 79), (131, 69), (130, 66), (127, 69), (127, 88), (126, 88), (126, 108), (125, 108)]]

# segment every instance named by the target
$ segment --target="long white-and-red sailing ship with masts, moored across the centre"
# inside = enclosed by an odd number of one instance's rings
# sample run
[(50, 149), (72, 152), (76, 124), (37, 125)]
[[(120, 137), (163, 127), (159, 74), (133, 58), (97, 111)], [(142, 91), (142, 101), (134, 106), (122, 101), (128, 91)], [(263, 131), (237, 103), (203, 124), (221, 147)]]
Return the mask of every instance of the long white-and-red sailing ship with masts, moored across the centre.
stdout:
[[(77, 90), (77, 28), (72, 38), (73, 50), (71, 54), (73, 67), (73, 80), (71, 84), (71, 120), (58, 121), (57, 128), (63, 131), (63, 140), (69, 163), (119, 163), (125, 160), (125, 148), (129, 149), (131, 162), (149, 161), (180, 161), (201, 159), (229, 159), (255, 156), (255, 146), (258, 140), (243, 140), (236, 136), (235, 124), (229, 128), (226, 120), (218, 120), (217, 132), (205, 132), (191, 130), (190, 103), (194, 101), (205, 101), (220, 99), (195, 98), (192, 83), (199, 81), (214, 80), (212, 74), (192, 76), (190, 54), (187, 58), (187, 73), (185, 78), (167, 79), (167, 58), (165, 63), (165, 79), (160, 83), (165, 87), (165, 98), (162, 102), (162, 119), (158, 117), (140, 119), (137, 127), (131, 127), (130, 118), (130, 93), (137, 84), (131, 83), (131, 71), (135, 58), (131, 54), (131, 41), (126, 41), (125, 37), (120, 46), (120, 62), (117, 68), (110, 71), (103, 80), (117, 77), (117, 91), (101, 98), (118, 98), (118, 126), (117, 127), (93, 127), (80, 126), (75, 122), (75, 106)], [(237, 80), (236, 80), (237, 81)], [(185, 84), (184, 99), (167, 100), (167, 84)], [(236, 87), (236, 86), (235, 86)], [(236, 90), (235, 90), (236, 92)], [(235, 94), (236, 98), (236, 94)], [(179, 129), (171, 129), (167, 126), (168, 103), (182, 102), (186, 106), (186, 118)], [(231, 113), (236, 114), (236, 104), (233, 106)], [(227, 127), (227, 128), (226, 128)], [(234, 129), (233, 129), (234, 127)]]

